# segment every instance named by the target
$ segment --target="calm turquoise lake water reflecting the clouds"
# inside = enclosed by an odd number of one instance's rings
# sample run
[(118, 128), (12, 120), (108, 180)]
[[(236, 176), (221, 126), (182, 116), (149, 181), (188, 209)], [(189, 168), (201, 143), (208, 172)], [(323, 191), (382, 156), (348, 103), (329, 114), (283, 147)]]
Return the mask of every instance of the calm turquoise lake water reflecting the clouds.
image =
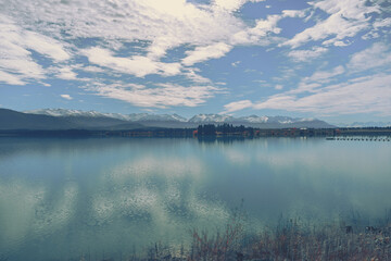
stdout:
[(0, 138), (0, 260), (116, 260), (215, 232), (241, 204), (327, 222), (391, 208), (391, 142)]

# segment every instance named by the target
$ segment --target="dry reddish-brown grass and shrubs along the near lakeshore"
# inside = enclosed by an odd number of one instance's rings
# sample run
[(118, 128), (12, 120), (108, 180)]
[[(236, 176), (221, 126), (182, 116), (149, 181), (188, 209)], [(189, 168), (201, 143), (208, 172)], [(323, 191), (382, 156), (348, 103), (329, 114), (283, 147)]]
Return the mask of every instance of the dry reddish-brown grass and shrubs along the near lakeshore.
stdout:
[(144, 258), (134, 256), (122, 260), (391, 260), (390, 219), (381, 221), (377, 227), (345, 225), (344, 222), (308, 225), (301, 220), (281, 220), (275, 227), (251, 235), (244, 232), (243, 224), (243, 215), (235, 215), (222, 232), (192, 231), (192, 241), (186, 249), (155, 244)]

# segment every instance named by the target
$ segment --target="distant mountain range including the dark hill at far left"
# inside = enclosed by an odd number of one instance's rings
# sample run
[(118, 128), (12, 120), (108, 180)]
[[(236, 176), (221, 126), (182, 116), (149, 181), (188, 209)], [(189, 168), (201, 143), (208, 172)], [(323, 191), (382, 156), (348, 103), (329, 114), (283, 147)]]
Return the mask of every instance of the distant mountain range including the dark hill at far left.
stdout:
[(190, 119), (178, 114), (100, 113), (65, 109), (17, 112), (0, 109), (0, 129), (135, 129), (143, 127), (198, 127), (200, 124), (244, 125), (258, 128), (328, 128), (335, 127), (317, 119), (288, 116), (242, 116), (198, 114)]

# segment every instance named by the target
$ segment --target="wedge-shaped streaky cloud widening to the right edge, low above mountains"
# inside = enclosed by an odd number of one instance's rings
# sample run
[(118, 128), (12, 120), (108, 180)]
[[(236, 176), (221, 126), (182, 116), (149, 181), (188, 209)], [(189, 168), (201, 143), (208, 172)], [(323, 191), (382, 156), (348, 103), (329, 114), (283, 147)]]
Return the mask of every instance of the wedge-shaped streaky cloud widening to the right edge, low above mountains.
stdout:
[[(270, 96), (264, 101), (231, 102), (226, 104), (225, 109), (227, 112), (252, 108), (311, 112), (317, 115), (377, 113), (390, 116), (391, 75), (377, 73), (357, 76), (355, 74), (389, 64), (391, 64), (390, 48), (383, 42), (376, 42), (354, 53), (346, 66), (338, 65), (331, 70), (316, 71), (311, 76), (303, 77), (295, 89)], [(346, 74), (351, 76), (350, 79), (342, 83), (336, 80), (336, 77)]]

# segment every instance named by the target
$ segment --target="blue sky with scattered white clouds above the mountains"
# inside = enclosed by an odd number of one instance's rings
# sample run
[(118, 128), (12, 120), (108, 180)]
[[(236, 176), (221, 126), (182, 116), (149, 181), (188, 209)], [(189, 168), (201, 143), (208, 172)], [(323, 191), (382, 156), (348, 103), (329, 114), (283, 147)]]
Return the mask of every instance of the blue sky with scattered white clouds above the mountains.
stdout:
[(391, 122), (391, 1), (0, 0), (0, 107)]

